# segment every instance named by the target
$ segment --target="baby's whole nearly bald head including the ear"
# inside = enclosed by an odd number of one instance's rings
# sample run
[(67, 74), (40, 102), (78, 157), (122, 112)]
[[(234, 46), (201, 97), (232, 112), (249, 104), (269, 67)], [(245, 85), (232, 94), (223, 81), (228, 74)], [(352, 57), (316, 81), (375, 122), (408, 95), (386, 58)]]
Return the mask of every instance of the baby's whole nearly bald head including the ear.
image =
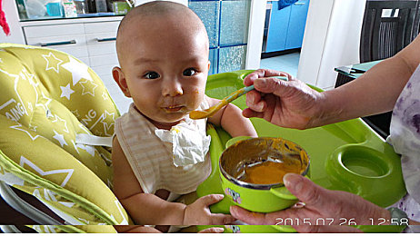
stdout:
[(208, 47), (205, 26), (185, 5), (139, 5), (118, 29), (120, 67), (113, 77), (140, 113), (156, 127), (169, 127), (205, 99)]

